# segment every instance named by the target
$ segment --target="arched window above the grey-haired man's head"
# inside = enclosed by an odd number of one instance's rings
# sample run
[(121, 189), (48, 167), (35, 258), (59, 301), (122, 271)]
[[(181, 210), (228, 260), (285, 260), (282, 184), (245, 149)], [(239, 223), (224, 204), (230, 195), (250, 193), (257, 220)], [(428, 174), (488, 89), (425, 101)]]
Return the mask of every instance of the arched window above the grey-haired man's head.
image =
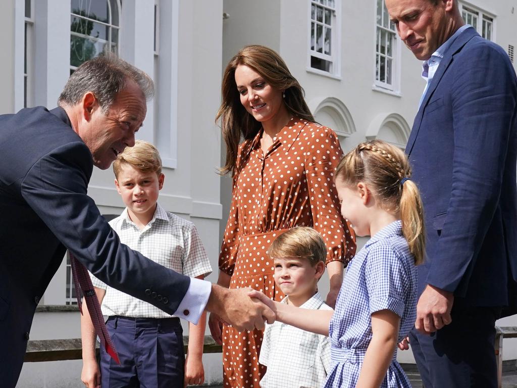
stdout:
[(118, 0), (71, 0), (70, 73), (102, 53), (118, 54)]

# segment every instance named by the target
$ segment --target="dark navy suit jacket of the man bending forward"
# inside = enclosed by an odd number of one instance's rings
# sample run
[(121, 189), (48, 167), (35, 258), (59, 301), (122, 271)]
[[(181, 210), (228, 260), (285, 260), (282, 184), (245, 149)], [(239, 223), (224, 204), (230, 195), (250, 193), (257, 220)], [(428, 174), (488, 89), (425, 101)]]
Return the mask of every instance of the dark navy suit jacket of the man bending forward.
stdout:
[(120, 243), (86, 195), (92, 154), (62, 108), (0, 116), (0, 158), (0, 385), (16, 385), (36, 306), (65, 247), (110, 286), (176, 311), (190, 279)]

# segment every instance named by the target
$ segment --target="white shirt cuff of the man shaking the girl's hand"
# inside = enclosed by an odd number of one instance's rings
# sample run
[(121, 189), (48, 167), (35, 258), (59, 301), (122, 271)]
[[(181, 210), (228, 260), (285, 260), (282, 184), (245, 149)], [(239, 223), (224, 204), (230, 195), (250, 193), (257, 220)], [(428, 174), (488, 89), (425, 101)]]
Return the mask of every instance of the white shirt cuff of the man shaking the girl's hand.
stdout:
[(197, 324), (205, 310), (211, 290), (211, 282), (191, 278), (187, 293), (179, 304), (178, 309), (174, 312), (174, 316)]

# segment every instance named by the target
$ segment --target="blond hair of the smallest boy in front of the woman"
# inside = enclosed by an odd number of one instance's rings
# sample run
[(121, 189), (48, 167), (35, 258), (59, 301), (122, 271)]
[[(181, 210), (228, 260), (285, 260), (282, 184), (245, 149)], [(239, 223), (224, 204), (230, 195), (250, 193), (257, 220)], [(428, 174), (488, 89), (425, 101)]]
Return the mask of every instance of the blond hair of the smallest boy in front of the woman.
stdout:
[(307, 259), (312, 266), (325, 262), (327, 247), (320, 233), (309, 227), (290, 229), (276, 238), (268, 249), (271, 258)]

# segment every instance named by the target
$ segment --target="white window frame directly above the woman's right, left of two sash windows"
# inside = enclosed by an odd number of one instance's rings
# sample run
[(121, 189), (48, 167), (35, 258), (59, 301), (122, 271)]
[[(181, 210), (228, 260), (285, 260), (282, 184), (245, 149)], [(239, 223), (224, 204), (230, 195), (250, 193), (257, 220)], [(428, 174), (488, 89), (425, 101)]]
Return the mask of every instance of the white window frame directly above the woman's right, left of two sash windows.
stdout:
[[(308, 34), (307, 34), (307, 71), (323, 76), (341, 79), (341, 0), (334, 0), (334, 7), (326, 5), (327, 0), (308, 0)], [(322, 4), (324, 2), (325, 4)], [(312, 5), (323, 7), (331, 11), (331, 35), (330, 35), (330, 55), (311, 50), (312, 38)], [(323, 39), (325, 39), (323, 37)], [(324, 59), (330, 62), (330, 71), (325, 71), (311, 67), (311, 57)]]

